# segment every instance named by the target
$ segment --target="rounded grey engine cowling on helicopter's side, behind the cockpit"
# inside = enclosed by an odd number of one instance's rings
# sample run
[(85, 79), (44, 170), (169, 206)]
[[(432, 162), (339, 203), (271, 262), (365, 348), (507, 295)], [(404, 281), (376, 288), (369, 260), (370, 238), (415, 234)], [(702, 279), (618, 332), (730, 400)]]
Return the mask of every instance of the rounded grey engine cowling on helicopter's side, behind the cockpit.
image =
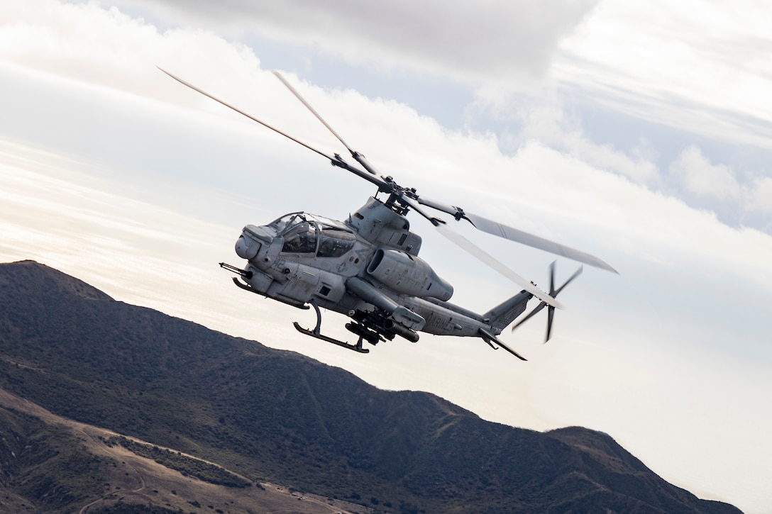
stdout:
[(399, 250), (376, 250), (367, 265), (367, 273), (398, 293), (442, 301), (453, 296), (453, 286), (439, 278), (432, 266), (415, 255)]

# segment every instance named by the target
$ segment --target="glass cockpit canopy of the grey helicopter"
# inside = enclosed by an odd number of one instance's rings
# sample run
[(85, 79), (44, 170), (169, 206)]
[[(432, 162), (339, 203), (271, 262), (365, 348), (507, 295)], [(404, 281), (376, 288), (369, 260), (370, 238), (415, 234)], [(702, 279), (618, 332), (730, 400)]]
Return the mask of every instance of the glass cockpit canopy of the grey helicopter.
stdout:
[(354, 248), (357, 241), (354, 233), (340, 222), (304, 212), (282, 216), (268, 227), (284, 239), (283, 253), (340, 257)]

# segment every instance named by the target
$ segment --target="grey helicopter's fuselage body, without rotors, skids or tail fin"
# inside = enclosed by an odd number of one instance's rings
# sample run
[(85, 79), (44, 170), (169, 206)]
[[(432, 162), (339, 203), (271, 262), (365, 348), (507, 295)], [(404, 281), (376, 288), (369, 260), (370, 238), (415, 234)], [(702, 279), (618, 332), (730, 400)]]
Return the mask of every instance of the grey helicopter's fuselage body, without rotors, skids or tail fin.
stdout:
[(249, 289), (292, 306), (315, 303), (347, 316), (377, 311), (398, 335), (500, 333), (447, 301), (453, 288), (418, 257), (421, 243), (404, 216), (370, 198), (345, 222), (296, 212), (247, 225), (235, 249), (248, 260), (242, 278)]

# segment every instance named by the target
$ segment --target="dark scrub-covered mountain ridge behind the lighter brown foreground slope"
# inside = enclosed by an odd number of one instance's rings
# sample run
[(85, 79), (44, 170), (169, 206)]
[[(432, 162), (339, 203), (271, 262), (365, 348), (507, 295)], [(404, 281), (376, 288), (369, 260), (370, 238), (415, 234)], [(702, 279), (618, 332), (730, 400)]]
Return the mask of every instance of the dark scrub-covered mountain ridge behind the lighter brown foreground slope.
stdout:
[(293, 352), (0, 265), (0, 387), (252, 478), (387, 512), (739, 512), (662, 480), (607, 435), (482, 421)]

